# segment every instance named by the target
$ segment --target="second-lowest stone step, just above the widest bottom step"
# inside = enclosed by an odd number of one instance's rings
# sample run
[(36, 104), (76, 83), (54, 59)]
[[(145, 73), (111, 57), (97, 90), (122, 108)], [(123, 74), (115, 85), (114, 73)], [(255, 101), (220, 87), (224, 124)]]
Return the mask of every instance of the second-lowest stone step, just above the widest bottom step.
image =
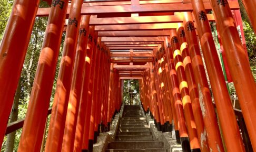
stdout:
[(134, 135), (117, 135), (115, 136), (115, 140), (129, 140), (129, 141), (145, 141), (145, 140), (153, 140), (152, 135), (144, 135), (144, 136), (134, 136)]

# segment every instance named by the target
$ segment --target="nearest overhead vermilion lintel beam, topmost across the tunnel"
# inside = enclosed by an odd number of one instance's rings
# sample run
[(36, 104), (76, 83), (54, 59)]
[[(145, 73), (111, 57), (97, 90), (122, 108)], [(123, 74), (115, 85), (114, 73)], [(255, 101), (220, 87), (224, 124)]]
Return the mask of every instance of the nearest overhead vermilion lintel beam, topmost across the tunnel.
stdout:
[[(231, 9), (239, 9), (238, 2), (229, 1)], [(204, 8), (211, 10), (210, 2), (204, 2)], [(174, 3), (174, 4), (144, 4), (144, 5), (113, 5), (113, 6), (88, 6), (82, 5), (81, 15), (97, 15), (104, 13), (154, 13), (154, 12), (192, 12), (190, 3)], [(68, 7), (67, 14), (70, 12)], [(38, 8), (37, 16), (48, 16), (49, 8)]]

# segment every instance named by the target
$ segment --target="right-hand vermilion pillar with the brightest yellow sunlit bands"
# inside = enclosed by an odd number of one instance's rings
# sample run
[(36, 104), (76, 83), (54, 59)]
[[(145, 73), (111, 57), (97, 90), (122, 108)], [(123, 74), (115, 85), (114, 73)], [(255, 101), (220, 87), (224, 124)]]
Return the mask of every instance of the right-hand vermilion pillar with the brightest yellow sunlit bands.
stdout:
[[(200, 151), (199, 139), (196, 134), (196, 126), (192, 111), (191, 99), (189, 96), (188, 83), (185, 78), (185, 71), (183, 67), (180, 45), (176, 32), (172, 31), (171, 33), (171, 45), (172, 45), (172, 55), (175, 64), (175, 70), (177, 72), (180, 93), (182, 96), (182, 104), (185, 113), (186, 125), (188, 126), (190, 147), (193, 151)], [(181, 138), (182, 140), (182, 138)]]

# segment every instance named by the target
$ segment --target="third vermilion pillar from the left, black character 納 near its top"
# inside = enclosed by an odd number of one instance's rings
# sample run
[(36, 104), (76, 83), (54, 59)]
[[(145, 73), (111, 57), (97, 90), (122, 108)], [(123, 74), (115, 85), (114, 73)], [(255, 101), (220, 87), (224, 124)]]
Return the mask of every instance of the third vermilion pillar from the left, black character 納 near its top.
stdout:
[[(81, 3), (73, 2), (78, 9)], [(66, 38), (61, 61), (61, 67), (57, 80), (57, 88), (54, 96), (53, 110), (50, 121), (50, 129), (46, 141), (46, 151), (61, 151), (62, 139), (65, 127), (67, 104), (70, 97), (73, 61), (77, 42), (78, 26), (80, 26), (80, 14), (75, 8), (71, 8), (70, 23), (67, 26)], [(73, 20), (74, 19), (74, 20)], [(73, 23), (71, 22), (73, 20)], [(52, 142), (56, 141), (56, 142)]]

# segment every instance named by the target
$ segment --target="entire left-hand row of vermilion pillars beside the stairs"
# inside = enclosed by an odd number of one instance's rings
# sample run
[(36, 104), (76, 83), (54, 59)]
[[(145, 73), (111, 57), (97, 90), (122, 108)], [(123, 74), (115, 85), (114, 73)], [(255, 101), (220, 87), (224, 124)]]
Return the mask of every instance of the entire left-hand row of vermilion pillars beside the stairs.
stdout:
[[(0, 120), (4, 123), (0, 126), (0, 145), (38, 3), (14, 3), (1, 45)], [(122, 103), (121, 81), (110, 62), (110, 50), (97, 37), (94, 26), (89, 26), (90, 15), (81, 16), (82, 4), (72, 1), (45, 151), (92, 151), (100, 131), (109, 131)], [(19, 5), (26, 9), (17, 12)], [(41, 149), (67, 6), (65, 1), (63, 7), (51, 7), (18, 151)], [(18, 27), (13, 29), (13, 22)]]

